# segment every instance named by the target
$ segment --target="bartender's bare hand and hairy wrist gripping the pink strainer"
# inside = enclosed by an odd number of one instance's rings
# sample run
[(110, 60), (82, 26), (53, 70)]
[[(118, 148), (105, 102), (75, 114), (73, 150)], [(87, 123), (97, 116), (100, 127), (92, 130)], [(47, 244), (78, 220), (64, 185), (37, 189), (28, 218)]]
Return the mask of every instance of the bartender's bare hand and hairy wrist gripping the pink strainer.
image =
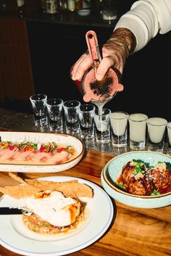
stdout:
[[(110, 67), (116, 67), (120, 73), (123, 73), (125, 61), (129, 53), (135, 49), (135, 37), (133, 33), (126, 28), (117, 28), (111, 38), (102, 47), (102, 60), (96, 70), (96, 79), (104, 78), (105, 73)], [(81, 80), (83, 73), (91, 66), (91, 58), (88, 52), (81, 55), (80, 59), (73, 65), (71, 71), (72, 80)]]

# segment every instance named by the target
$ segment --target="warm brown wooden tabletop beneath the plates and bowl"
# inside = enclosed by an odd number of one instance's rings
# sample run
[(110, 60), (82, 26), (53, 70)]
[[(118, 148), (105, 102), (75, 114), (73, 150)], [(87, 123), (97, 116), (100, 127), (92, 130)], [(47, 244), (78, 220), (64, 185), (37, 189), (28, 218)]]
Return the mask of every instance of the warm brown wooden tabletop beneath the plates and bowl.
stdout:
[[(20, 173), (20, 175), (24, 178), (73, 176), (84, 178), (101, 186), (101, 169), (112, 157), (114, 157), (112, 154), (88, 149), (83, 160), (70, 170), (59, 173)], [(8, 173), (0, 172), (0, 186), (16, 184), (17, 181), (12, 180)], [(171, 205), (157, 209), (140, 209), (122, 205), (114, 199), (112, 202), (114, 218), (107, 232), (90, 246), (70, 255), (171, 255)], [(19, 255), (0, 246), (0, 256)]]

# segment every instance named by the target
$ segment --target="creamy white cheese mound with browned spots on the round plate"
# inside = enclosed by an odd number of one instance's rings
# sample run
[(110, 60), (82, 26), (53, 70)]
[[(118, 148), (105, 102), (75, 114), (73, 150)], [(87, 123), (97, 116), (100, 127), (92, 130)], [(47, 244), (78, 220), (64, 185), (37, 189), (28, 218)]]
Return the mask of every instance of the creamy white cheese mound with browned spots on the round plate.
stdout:
[(25, 199), (25, 207), (53, 226), (68, 226), (80, 215), (80, 202), (59, 191), (43, 191)]

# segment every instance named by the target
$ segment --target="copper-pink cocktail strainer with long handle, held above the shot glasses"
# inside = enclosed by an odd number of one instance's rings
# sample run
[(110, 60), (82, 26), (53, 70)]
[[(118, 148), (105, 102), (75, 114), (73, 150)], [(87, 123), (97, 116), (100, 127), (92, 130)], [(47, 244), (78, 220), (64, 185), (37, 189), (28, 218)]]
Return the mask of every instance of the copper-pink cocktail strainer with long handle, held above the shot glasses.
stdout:
[(96, 80), (96, 70), (101, 62), (101, 54), (96, 33), (89, 30), (86, 33), (86, 42), (91, 57), (92, 65), (86, 70), (80, 83), (83, 100), (85, 102), (108, 102), (117, 91), (122, 91), (120, 72), (112, 67), (102, 80)]

